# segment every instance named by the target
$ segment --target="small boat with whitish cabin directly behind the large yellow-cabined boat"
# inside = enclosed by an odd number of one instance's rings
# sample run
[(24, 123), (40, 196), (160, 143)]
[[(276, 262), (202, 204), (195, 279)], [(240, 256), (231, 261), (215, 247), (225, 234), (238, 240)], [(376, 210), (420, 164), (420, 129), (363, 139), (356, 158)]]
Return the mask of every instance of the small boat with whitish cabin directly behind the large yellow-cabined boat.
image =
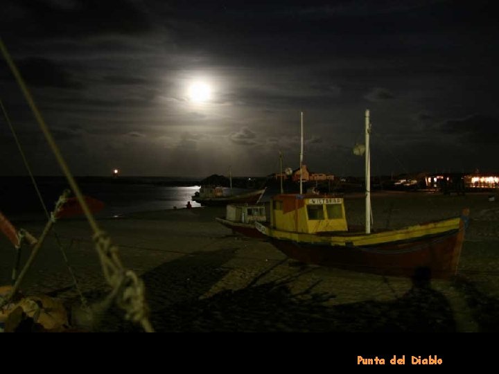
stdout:
[(254, 222), (267, 221), (264, 204), (228, 204), (225, 217), (215, 218), (220, 224), (249, 238), (266, 238)]

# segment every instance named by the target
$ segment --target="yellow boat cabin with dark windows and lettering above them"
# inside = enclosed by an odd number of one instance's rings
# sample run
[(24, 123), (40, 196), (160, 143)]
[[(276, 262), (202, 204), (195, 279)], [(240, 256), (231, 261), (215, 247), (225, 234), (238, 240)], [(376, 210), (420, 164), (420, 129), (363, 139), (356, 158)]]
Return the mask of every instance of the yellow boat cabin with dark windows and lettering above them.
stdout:
[(342, 197), (282, 194), (272, 197), (272, 228), (299, 233), (347, 231)]

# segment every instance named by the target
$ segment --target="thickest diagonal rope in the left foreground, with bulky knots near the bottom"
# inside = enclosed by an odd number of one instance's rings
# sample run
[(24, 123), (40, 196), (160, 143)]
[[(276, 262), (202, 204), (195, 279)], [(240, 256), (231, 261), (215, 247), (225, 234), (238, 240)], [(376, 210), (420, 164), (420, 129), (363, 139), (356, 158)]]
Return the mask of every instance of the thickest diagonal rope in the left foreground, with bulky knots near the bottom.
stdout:
[[(100, 230), (94, 216), (91, 214), (90, 208), (85, 202), (85, 198), (83, 197), (80, 187), (76, 184), (76, 180), (74, 179), (71, 171), (69, 170), (69, 166), (67, 165), (64, 157), (58, 148), (58, 145), (55, 143), (53, 136), (49, 130), (49, 127), (46, 125), (42, 114), (38, 110), (33, 97), (26, 86), (21, 74), (19, 73), (17, 66), (14, 61), (10, 57), (10, 54), (7, 51), (6, 46), (3, 44), (3, 40), (0, 38), (0, 50), (5, 58), (10, 70), (15, 76), (17, 84), (21, 88), (30, 109), (33, 111), (33, 114), (37, 120), (38, 125), (40, 126), (40, 130), (42, 130), (47, 143), (57, 159), (62, 172), (71, 186), (71, 190), (75, 194), (80, 206), (82, 207), (83, 213), (85, 213), (85, 217), (87, 217), (87, 221), (91, 227), (91, 230), (94, 232), (94, 240), (96, 241), (96, 251), (100, 258), (100, 264), (103, 269), (103, 274), (107, 283), (112, 287), (113, 290), (119, 287), (125, 287), (123, 292), (117, 295), (116, 304), (121, 308), (125, 309), (127, 318), (132, 319), (132, 321), (136, 323), (141, 323), (142, 327), (146, 332), (153, 332), (152, 326), (148, 319), (148, 308), (146, 305), (146, 301), (144, 299), (144, 285), (143, 282), (135, 276), (132, 271), (125, 270), (123, 265), (121, 265), (121, 261), (118, 257), (118, 248), (116, 245), (112, 244), (109, 235), (104, 231)], [(133, 274), (133, 276), (131, 275)]]

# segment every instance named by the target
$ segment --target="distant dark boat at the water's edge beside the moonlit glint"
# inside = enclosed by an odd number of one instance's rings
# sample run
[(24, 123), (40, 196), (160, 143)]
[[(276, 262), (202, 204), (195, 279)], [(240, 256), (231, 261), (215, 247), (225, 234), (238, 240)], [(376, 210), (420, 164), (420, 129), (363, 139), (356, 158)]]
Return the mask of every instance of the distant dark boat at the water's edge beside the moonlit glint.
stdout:
[(232, 189), (221, 186), (202, 186), (199, 192), (192, 197), (193, 202), (206, 206), (222, 206), (227, 204), (247, 203), (256, 204), (265, 193), (265, 188), (261, 190), (250, 190), (233, 193)]

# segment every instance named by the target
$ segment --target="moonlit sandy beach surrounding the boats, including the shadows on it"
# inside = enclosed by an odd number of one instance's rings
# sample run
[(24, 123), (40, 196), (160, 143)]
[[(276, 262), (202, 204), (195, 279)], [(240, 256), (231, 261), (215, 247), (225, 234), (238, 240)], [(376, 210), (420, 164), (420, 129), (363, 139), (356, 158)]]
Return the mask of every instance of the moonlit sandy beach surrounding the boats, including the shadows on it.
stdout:
[[(499, 323), (499, 201), (486, 193), (376, 193), (374, 228), (397, 228), (471, 209), (458, 275), (414, 287), (408, 278), (304, 265), (271, 244), (234, 235), (214, 220), (225, 208), (133, 213), (99, 220), (119, 246), (123, 265), (146, 285), (157, 332), (497, 332)], [(364, 222), (362, 195), (345, 196), (351, 224)], [(40, 235), (44, 222), (15, 222)], [(61, 220), (55, 232), (66, 248), (89, 303), (109, 292), (89, 225)], [(28, 249), (25, 247), (21, 263)], [(0, 284), (10, 283), (15, 249), (0, 238)], [(21, 290), (44, 293), (78, 310), (80, 296), (51, 237)], [(76, 315), (76, 312), (75, 312)], [(76, 318), (76, 317), (75, 317)], [(76, 319), (75, 319), (76, 321)], [(94, 330), (142, 331), (109, 308)]]

